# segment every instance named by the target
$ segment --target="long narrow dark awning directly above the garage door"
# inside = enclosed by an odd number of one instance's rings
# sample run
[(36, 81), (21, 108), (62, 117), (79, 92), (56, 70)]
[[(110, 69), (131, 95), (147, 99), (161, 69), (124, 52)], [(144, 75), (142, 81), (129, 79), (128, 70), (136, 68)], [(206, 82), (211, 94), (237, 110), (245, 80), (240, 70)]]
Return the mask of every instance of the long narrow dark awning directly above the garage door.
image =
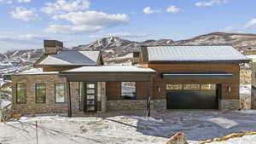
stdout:
[(232, 78), (232, 73), (162, 73), (164, 79)]

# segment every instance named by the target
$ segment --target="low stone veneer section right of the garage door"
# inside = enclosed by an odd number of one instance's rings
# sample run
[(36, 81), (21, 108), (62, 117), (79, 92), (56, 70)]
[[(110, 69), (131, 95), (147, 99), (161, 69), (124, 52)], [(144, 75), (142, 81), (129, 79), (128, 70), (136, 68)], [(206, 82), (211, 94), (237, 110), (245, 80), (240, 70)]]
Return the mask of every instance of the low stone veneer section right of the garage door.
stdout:
[(218, 100), (218, 109), (219, 110), (238, 110), (240, 106), (240, 101), (236, 99), (219, 99)]

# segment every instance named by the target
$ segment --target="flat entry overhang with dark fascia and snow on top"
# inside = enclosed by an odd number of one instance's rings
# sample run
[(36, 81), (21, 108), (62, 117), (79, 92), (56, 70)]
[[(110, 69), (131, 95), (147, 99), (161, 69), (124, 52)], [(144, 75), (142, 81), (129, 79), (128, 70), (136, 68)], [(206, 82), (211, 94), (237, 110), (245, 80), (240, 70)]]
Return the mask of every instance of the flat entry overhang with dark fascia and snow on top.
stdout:
[(137, 66), (83, 66), (62, 71), (68, 82), (149, 82), (155, 71)]

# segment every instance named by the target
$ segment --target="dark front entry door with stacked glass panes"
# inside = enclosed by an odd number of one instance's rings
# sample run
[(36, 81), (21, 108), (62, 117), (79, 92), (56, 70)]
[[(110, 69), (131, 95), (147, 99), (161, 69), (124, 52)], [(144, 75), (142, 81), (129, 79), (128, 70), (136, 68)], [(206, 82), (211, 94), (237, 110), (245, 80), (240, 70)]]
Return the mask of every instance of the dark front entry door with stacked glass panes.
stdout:
[(85, 84), (85, 112), (96, 112), (96, 83)]

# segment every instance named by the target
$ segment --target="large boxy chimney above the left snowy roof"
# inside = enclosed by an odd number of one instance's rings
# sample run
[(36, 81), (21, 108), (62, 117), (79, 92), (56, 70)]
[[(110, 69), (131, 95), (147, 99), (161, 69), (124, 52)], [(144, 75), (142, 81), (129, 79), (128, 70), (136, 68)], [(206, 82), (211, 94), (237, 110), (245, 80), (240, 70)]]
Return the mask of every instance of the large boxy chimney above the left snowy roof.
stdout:
[(62, 49), (62, 42), (57, 40), (44, 40), (44, 55), (55, 55)]

